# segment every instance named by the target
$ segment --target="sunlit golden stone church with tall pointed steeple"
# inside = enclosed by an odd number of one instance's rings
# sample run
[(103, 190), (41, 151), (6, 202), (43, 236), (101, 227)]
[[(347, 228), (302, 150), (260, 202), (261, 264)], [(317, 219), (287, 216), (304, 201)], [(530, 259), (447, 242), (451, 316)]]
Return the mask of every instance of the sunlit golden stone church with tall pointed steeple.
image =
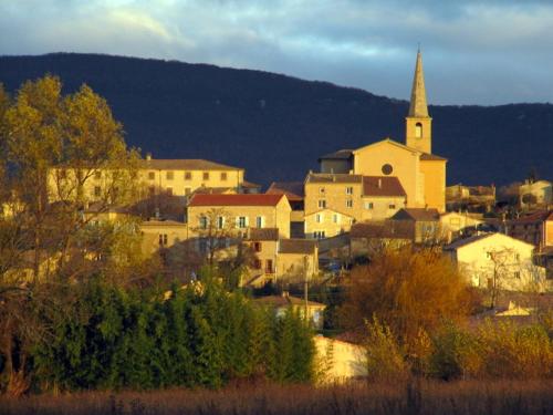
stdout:
[(327, 154), (319, 159), (321, 173), (397, 177), (405, 189), (407, 208), (444, 212), (447, 159), (432, 154), (432, 118), (428, 114), (420, 51), (405, 126), (405, 143), (388, 137), (357, 149)]

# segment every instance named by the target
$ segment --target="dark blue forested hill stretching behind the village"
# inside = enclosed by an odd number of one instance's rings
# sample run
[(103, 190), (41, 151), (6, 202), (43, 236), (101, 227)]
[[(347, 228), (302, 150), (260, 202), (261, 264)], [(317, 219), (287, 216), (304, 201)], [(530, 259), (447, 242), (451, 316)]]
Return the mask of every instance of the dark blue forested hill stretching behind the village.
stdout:
[[(362, 90), (174, 61), (0, 56), (0, 82), (11, 92), (44, 73), (59, 75), (66, 92), (85, 82), (105, 96), (143, 154), (241, 166), (264, 185), (303, 179), (320, 155), (340, 148), (404, 141), (407, 102)], [(505, 184), (531, 168), (553, 179), (552, 104), (430, 106), (430, 114), (434, 153), (449, 158), (448, 184)]]

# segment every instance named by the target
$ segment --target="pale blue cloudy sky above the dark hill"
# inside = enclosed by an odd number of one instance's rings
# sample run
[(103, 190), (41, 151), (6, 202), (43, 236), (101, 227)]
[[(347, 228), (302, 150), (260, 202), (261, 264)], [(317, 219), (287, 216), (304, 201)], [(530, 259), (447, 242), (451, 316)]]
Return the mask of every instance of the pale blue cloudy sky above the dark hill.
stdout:
[(553, 0), (0, 0), (0, 54), (211, 63), (431, 104), (553, 102)]

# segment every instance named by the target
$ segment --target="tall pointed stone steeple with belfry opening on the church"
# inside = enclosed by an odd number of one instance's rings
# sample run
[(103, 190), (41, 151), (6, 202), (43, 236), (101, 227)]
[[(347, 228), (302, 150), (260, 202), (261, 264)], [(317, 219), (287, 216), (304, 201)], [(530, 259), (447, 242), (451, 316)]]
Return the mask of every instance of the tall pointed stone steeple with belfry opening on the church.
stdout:
[(406, 121), (406, 144), (424, 153), (431, 153), (432, 118), (428, 115), (426, 102), (425, 74), (422, 72), (422, 54), (417, 52), (415, 75), (413, 77), (411, 102)]

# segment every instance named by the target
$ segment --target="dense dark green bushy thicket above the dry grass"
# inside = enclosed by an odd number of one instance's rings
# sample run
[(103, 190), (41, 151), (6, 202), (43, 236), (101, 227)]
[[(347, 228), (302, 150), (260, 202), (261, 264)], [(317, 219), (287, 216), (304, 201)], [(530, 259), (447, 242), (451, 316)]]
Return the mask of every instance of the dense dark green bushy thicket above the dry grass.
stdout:
[[(34, 347), (42, 390), (219, 387), (264, 375), (312, 378), (311, 331), (296, 314), (276, 319), (216, 281), (139, 292), (95, 281), (49, 315)], [(73, 293), (74, 294), (74, 293)]]

